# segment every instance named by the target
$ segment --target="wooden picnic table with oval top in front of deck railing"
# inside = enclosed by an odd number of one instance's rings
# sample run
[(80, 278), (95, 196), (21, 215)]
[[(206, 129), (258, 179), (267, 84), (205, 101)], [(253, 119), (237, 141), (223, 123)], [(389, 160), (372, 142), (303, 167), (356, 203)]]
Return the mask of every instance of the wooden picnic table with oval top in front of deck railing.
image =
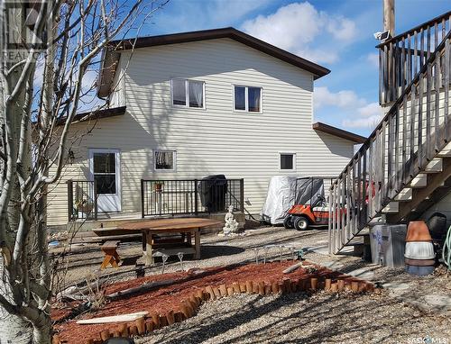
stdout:
[[(171, 252), (174, 254), (178, 252), (192, 253), (194, 258), (200, 258), (200, 229), (204, 227), (218, 225), (221, 222), (217, 222), (210, 219), (202, 218), (177, 218), (177, 219), (160, 219), (160, 220), (143, 220), (140, 222), (127, 222), (121, 227), (125, 231), (141, 231), (143, 234), (143, 257), (145, 265), (149, 266), (153, 264), (152, 249), (155, 244), (155, 238), (161, 234), (167, 233), (179, 233), (181, 235), (181, 241), (167, 240), (168, 244), (182, 243), (184, 247), (176, 249), (165, 249), (163, 251)], [(194, 236), (194, 247), (192, 246), (191, 238)], [(185, 241), (186, 240), (186, 241)], [(144, 250), (145, 249), (145, 250)], [(177, 252), (176, 252), (177, 251)]]

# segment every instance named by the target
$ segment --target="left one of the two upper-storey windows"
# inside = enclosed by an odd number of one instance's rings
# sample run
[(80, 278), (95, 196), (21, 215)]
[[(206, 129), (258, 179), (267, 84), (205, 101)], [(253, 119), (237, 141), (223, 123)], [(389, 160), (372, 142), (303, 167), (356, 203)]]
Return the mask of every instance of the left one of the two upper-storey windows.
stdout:
[(176, 106), (200, 107), (205, 104), (205, 83), (188, 79), (170, 80), (172, 104)]

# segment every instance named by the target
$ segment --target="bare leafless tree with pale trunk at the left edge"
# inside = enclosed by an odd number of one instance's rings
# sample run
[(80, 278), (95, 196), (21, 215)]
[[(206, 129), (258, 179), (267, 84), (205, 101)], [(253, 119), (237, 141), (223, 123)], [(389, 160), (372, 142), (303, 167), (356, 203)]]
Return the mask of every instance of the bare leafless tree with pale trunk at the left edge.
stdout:
[(88, 96), (83, 77), (165, 3), (0, 0), (1, 342), (51, 341), (46, 195)]

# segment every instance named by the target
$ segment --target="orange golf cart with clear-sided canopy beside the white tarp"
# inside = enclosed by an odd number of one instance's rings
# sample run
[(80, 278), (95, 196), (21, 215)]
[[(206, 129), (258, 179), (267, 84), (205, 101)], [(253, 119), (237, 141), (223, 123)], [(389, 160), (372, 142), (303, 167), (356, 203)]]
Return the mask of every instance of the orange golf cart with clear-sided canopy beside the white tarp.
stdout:
[(307, 231), (310, 226), (327, 226), (328, 219), (329, 209), (324, 196), (324, 178), (298, 178), (295, 204), (287, 212), (283, 226), (287, 229)]

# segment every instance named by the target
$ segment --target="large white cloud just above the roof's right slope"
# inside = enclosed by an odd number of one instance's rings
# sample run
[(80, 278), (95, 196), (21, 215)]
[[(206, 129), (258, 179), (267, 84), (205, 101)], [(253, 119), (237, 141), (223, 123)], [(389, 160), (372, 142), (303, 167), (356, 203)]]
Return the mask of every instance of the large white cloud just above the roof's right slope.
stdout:
[(289, 50), (305, 59), (333, 63), (338, 52), (355, 38), (355, 23), (318, 11), (308, 2), (280, 7), (243, 23), (244, 32)]

